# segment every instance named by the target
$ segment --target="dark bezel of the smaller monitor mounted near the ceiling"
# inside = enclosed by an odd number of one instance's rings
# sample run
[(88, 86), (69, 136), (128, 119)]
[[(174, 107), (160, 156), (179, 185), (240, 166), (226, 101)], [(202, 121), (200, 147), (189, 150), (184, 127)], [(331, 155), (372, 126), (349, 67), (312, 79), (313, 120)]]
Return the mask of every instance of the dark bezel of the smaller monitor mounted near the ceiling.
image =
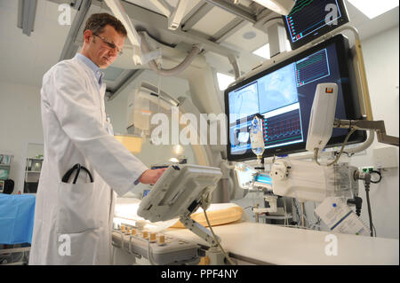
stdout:
[(303, 37), (299, 41), (296, 41), (294, 43), (292, 42), (291, 33), (290, 33), (289, 27), (287, 25), (286, 16), (282, 16), (282, 19), (284, 20), (284, 29), (286, 30), (286, 35), (289, 40), (289, 43), (291, 44), (292, 50), (296, 50), (296, 49), (300, 48), (301, 46), (303, 46), (307, 43), (310, 43), (313, 40), (316, 40), (317, 38), (319, 38), (323, 35), (326, 35), (326, 34), (332, 32), (332, 30), (334, 30), (336, 28), (340, 28), (341, 26), (343, 26), (349, 22), (348, 9), (346, 7), (346, 4), (344, 3), (343, 0), (336, 0), (336, 1), (338, 1), (340, 12), (342, 12), (342, 17), (340, 18), (340, 20), (338, 20), (338, 24), (335, 26), (333, 26), (333, 25), (327, 26), (326, 25), (323, 28), (320, 28), (316, 33), (307, 35), (306, 37)]

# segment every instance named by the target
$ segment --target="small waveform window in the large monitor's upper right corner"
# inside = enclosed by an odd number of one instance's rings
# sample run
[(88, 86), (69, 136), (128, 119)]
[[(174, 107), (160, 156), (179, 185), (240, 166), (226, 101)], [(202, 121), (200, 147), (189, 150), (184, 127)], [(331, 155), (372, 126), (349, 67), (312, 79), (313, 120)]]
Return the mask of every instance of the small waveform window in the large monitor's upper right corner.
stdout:
[(308, 83), (316, 82), (331, 75), (326, 49), (318, 51), (308, 58), (296, 63), (297, 86), (303, 86)]

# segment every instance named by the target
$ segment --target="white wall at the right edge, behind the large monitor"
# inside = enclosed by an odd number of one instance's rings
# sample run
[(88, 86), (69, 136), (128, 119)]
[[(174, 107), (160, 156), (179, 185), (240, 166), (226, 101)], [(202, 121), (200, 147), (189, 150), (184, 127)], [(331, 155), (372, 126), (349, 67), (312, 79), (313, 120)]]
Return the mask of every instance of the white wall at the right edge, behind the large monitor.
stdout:
[[(374, 120), (384, 120), (388, 135), (399, 137), (399, 28), (391, 28), (380, 35), (364, 40), (364, 60), (372, 102)], [(366, 155), (355, 156), (351, 164), (372, 166), (374, 148), (387, 147), (374, 141)], [(396, 147), (398, 160), (398, 147)], [(399, 238), (399, 169), (383, 171), (380, 184), (371, 186), (372, 221), (378, 237)], [(362, 219), (369, 224), (364, 185)]]

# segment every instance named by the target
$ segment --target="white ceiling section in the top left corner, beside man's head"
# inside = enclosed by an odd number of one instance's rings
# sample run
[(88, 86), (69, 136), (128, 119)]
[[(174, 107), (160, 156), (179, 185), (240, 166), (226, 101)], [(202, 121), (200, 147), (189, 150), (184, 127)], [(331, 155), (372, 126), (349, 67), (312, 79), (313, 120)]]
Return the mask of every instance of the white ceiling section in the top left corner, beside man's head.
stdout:
[(34, 32), (23, 35), (17, 28), (18, 1), (0, 0), (0, 80), (42, 84), (44, 73), (60, 58), (70, 28), (58, 24), (59, 14), (58, 5), (39, 0)]

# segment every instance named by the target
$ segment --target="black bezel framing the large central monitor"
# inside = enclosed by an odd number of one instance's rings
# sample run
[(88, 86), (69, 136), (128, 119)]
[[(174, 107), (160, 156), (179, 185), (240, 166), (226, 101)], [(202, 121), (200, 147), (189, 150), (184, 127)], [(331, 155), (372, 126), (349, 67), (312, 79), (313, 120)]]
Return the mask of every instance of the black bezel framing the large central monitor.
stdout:
[[(229, 87), (227, 90), (225, 90), (225, 92), (224, 92), (225, 114), (227, 114), (227, 118), (228, 118), (228, 127), (227, 127), (227, 131), (228, 131), (228, 137), (227, 137), (228, 161), (248, 161), (248, 160), (252, 160), (252, 159), (256, 158), (256, 156), (252, 152), (243, 153), (243, 154), (232, 154), (231, 153), (231, 150), (230, 150), (230, 147), (231, 147), (230, 117), (229, 117), (229, 105), (228, 105), (229, 92), (240, 89), (240, 88), (244, 87), (245, 85), (250, 84), (250, 83), (260, 79), (260, 77), (263, 77), (265, 75), (273, 73), (276, 70), (278, 70), (284, 66), (287, 66), (289, 64), (292, 64), (293, 62), (299, 61), (300, 59), (306, 58), (307, 56), (315, 53), (316, 51), (323, 50), (324, 48), (328, 47), (331, 44), (335, 44), (338, 58), (340, 58), (340, 60), (338, 60), (340, 76), (342, 78), (348, 78), (348, 80), (341, 80), (341, 87), (342, 87), (343, 94), (348, 93), (348, 95), (343, 95), (347, 119), (350, 119), (350, 120), (363, 119), (363, 115), (361, 114), (361, 106), (360, 106), (359, 98), (357, 95), (356, 75), (355, 75), (355, 70), (353, 67), (353, 59), (352, 59), (351, 49), (349, 48), (348, 39), (344, 35), (335, 35), (331, 39), (328, 39), (323, 43), (319, 43), (306, 51), (300, 52), (299, 54), (293, 55), (292, 57), (290, 57), (288, 59), (284, 59), (282, 62), (277, 63), (273, 67), (269, 67), (268, 69), (260, 71), (260, 73), (258, 73), (256, 75), (252, 75), (251, 77), (245, 79), (244, 81), (237, 83), (237, 84)], [(314, 93), (313, 93), (313, 95), (314, 95)], [(345, 138), (346, 138), (346, 135), (331, 138), (329, 140), (328, 144), (326, 145), (326, 148), (342, 145)], [(353, 133), (353, 135), (349, 138), (348, 145), (362, 143), (365, 140), (366, 140), (366, 131), (356, 130), (356, 132)], [(275, 156), (275, 155), (281, 156), (281, 155), (291, 154), (291, 153), (306, 152), (306, 143), (307, 143), (307, 140), (305, 140), (304, 142), (301, 142), (299, 144), (284, 145), (281, 147), (278, 146), (278, 147), (268, 148), (264, 151), (263, 157), (265, 158), (265, 157), (270, 157), (270, 156)]]

